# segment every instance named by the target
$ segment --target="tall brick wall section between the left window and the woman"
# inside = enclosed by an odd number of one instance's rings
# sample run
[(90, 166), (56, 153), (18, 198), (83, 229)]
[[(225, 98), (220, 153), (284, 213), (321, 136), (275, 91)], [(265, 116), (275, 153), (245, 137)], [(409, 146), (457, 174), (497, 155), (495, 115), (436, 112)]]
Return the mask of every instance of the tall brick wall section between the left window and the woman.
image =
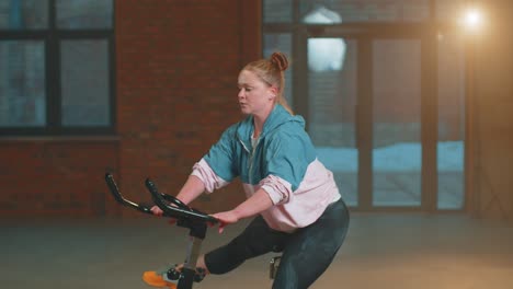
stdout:
[[(240, 118), (237, 76), (247, 58), (260, 56), (260, 27), (240, 13), (247, 1), (116, 3), (122, 189), (147, 199), (144, 180), (150, 176), (174, 195), (192, 165)], [(220, 194), (193, 206), (217, 210), (243, 197), (238, 188)]]

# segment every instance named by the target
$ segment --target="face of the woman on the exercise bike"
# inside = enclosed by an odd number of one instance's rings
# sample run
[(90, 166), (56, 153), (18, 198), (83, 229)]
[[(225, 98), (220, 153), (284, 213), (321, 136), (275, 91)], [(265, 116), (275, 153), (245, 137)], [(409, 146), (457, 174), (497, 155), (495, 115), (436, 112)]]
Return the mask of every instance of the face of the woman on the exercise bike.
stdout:
[(249, 70), (240, 72), (238, 86), (238, 100), (243, 114), (265, 116), (271, 112), (276, 97), (274, 86), (270, 86)]

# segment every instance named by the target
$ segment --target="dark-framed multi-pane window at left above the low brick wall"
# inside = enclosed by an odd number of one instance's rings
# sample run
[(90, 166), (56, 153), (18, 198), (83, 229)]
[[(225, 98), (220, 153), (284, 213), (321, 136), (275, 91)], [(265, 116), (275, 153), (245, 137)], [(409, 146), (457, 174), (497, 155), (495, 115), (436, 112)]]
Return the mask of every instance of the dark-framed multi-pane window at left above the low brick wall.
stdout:
[(0, 135), (114, 131), (113, 5), (0, 1)]

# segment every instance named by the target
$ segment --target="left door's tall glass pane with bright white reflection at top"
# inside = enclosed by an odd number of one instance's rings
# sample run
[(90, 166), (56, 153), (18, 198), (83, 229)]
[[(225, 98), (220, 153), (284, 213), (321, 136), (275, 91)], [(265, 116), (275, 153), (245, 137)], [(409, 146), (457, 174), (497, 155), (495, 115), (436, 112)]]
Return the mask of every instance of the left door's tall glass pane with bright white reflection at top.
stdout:
[[(342, 38), (310, 38), (308, 49), (308, 63), (312, 63), (308, 69), (309, 134), (319, 160), (333, 172), (342, 197), (347, 205), (357, 206), (357, 44)], [(319, 54), (327, 50), (331, 54)]]

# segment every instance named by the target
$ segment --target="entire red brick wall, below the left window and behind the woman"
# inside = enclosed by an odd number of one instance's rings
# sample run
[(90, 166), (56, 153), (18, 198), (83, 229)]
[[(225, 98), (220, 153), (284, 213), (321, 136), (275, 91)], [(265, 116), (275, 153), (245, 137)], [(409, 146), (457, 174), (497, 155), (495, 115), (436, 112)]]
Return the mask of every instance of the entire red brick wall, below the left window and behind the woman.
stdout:
[[(237, 76), (260, 57), (260, 1), (116, 0), (117, 136), (0, 140), (0, 215), (136, 215), (106, 195), (105, 171), (130, 199), (150, 199), (148, 176), (175, 195), (240, 118)], [(233, 184), (193, 206), (242, 199)]]

